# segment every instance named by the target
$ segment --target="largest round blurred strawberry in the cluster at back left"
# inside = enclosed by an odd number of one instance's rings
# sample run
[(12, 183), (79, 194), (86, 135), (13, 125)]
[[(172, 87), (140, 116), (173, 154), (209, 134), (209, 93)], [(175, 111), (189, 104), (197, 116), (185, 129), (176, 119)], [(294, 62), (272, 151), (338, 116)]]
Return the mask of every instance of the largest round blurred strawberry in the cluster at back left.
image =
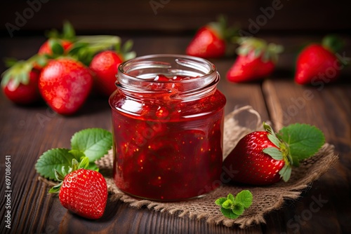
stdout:
[(60, 114), (75, 113), (84, 104), (92, 85), (88, 67), (69, 57), (51, 60), (39, 77), (41, 96)]

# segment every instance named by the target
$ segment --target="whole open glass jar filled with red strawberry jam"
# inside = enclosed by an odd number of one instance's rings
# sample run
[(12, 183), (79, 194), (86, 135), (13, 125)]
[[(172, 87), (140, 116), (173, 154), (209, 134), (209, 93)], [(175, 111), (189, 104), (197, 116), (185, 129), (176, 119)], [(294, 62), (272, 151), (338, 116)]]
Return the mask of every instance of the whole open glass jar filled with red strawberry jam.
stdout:
[(119, 66), (109, 102), (114, 181), (134, 197), (179, 201), (219, 186), (225, 96), (207, 60), (147, 55)]

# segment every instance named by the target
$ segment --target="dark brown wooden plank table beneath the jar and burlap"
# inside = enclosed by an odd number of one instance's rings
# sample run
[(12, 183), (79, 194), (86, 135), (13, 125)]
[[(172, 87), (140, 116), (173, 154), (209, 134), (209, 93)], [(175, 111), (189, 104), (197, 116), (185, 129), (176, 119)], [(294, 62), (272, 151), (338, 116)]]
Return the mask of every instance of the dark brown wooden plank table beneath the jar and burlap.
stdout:
[[(128, 37), (129, 38), (129, 37)], [(131, 36), (138, 55), (184, 53), (187, 36)], [(124, 38), (126, 39), (126, 38)], [(301, 45), (316, 37), (269, 37), (284, 45)], [(34, 54), (44, 37), (1, 39), (0, 57), (27, 58)], [(350, 57), (345, 50), (345, 57)], [(320, 128), (326, 142), (336, 147), (340, 160), (314, 181), (295, 201), (265, 216), (266, 224), (238, 227), (208, 225), (204, 220), (179, 218), (124, 202), (108, 201), (105, 215), (97, 221), (81, 219), (67, 212), (48, 186), (38, 181), (34, 170), (44, 151), (69, 147), (69, 139), (84, 128), (111, 130), (107, 99), (91, 97), (74, 116), (53, 113), (44, 104), (20, 107), (0, 95), (1, 228), (0, 233), (351, 233), (351, 136), (350, 69), (342, 69), (342, 79), (325, 86), (300, 86), (293, 82), (296, 53), (284, 53), (278, 70), (263, 82), (229, 83), (225, 73), (234, 58), (211, 60), (222, 74), (218, 85), (227, 97), (226, 113), (236, 106), (251, 105), (263, 120), (279, 129), (289, 123), (310, 123)], [(1, 65), (4, 71), (4, 65)], [(5, 227), (5, 160), (11, 156), (11, 229)], [(324, 200), (317, 212), (308, 212), (314, 198)]]

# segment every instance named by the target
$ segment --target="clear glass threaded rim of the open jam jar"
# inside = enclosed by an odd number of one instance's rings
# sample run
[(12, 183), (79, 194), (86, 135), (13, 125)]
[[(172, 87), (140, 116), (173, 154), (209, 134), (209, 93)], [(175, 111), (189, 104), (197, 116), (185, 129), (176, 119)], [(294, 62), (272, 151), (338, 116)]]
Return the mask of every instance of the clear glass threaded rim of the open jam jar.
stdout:
[[(156, 81), (158, 75), (189, 78)], [(216, 89), (220, 76), (212, 62), (179, 54), (154, 54), (135, 57), (119, 65), (117, 88), (131, 95), (164, 95), (171, 98), (199, 97)], [(152, 87), (152, 88), (150, 88)], [(174, 88), (177, 87), (177, 88)]]

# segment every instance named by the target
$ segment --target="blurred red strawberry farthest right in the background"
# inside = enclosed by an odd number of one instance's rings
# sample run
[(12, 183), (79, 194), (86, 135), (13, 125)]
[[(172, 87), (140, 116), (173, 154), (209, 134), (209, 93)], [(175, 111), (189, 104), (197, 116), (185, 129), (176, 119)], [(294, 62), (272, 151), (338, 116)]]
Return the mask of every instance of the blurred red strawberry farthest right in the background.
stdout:
[(324, 37), (322, 43), (303, 48), (296, 60), (295, 82), (316, 85), (336, 81), (341, 67), (336, 52), (342, 47), (343, 41), (330, 35)]

